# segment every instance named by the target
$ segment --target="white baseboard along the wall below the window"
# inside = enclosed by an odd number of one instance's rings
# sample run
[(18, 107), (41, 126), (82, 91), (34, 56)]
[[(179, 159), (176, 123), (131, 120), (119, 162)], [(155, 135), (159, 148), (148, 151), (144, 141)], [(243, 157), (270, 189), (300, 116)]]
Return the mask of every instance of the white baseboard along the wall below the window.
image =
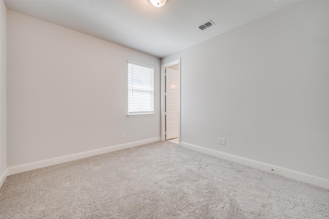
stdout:
[(140, 141), (134, 141), (134, 142), (129, 142), (129, 143), (124, 143), (124, 144), (118, 144), (118, 145), (113, 145), (110, 147), (106, 148), (101, 148), (101, 149), (96, 149), (92, 151), (85, 151), (77, 154), (70, 154), (70, 155), (65, 155), (61, 157), (54, 157), (46, 160), (40, 160), (36, 162), (30, 162), (30, 163), (25, 163), (23, 165), (17, 165), (13, 167), (8, 167), (8, 175), (13, 175), (16, 173), (22, 173), (30, 170), (35, 170), (43, 167), (49, 167), (52, 165), (57, 165), (59, 163), (64, 163), (72, 160), (78, 160), (86, 157), (92, 157), (95, 155), (100, 155), (100, 154), (105, 154), (108, 152), (113, 152), (113, 151), (119, 151), (127, 148), (133, 148), (142, 144), (147, 144), (147, 143), (152, 143), (155, 141), (160, 141), (161, 137), (156, 137), (156, 138), (150, 138), (150, 139), (145, 139), (145, 140), (140, 140)]

